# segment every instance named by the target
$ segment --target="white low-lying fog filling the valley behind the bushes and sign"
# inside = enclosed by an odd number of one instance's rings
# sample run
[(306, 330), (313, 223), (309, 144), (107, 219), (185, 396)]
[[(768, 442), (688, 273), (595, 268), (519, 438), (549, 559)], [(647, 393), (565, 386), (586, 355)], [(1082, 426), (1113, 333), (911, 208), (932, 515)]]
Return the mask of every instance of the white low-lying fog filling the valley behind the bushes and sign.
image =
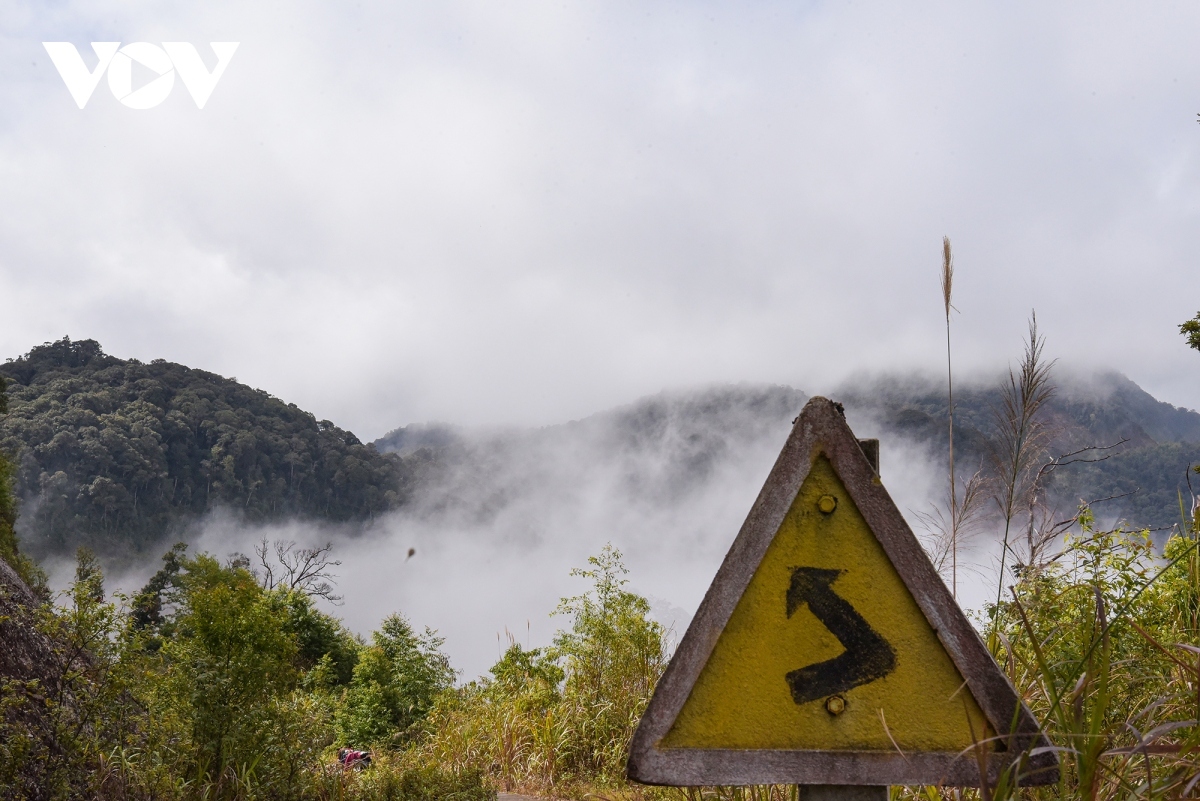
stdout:
[[(806, 399), (790, 387), (724, 386), (536, 430), (434, 429), (452, 442), (448, 465), (365, 534), (307, 523), (251, 529), (218, 514), (192, 549), (224, 558), (252, 554), (264, 537), (332, 541), (344, 601), (330, 610), (362, 634), (396, 610), (437, 630), (463, 680), (485, 673), (509, 636), (540, 646), (569, 627), (551, 613), (586, 590), (570, 571), (606, 543), (624, 554), (629, 586), (682, 636)], [(882, 436), (884, 486), (914, 523), (912, 512), (944, 492), (942, 465), (865, 412), (850, 409), (848, 420), (858, 436)], [(984, 567), (960, 571), (962, 602), (978, 606), (991, 560), (977, 552), (961, 561)], [(109, 585), (136, 589), (155, 567)], [(66, 565), (54, 572), (68, 580)]]

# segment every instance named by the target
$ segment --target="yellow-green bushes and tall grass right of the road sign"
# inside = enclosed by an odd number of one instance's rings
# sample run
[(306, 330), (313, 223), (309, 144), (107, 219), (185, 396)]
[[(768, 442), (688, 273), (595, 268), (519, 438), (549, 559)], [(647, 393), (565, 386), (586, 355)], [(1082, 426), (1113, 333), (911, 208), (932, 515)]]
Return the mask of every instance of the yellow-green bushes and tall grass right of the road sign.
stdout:
[(1194, 526), (1158, 556), (1146, 532), (1098, 531), (1086, 507), (1078, 522), (997, 609), (996, 657), (1062, 759), (1057, 787), (1022, 797), (1186, 797), (1200, 781)]

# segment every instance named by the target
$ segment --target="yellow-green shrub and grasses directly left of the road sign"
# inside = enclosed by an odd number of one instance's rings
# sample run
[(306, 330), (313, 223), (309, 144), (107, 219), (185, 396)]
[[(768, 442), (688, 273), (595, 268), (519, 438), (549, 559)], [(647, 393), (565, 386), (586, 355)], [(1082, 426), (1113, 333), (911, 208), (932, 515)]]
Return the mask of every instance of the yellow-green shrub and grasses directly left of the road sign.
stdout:
[(571, 616), (548, 650), (511, 643), (491, 677), (446, 693), (430, 713), (420, 758), (478, 769), (505, 789), (553, 795), (622, 790), (629, 741), (666, 666), (667, 632), (625, 588), (620, 553), (606, 547), (572, 571), (588, 579), (564, 598)]

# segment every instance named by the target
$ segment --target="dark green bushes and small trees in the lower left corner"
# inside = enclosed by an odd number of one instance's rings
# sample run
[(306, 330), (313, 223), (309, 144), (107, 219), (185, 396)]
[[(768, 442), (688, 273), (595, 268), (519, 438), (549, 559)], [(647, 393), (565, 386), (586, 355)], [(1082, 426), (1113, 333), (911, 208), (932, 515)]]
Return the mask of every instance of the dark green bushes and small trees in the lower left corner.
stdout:
[(361, 775), (337, 764), (335, 718), (364, 656), (410, 668), (416, 643), (431, 673), (421, 704), (449, 686), (436, 636), (414, 637), (398, 616), (367, 649), (302, 592), (184, 547), (132, 603), (106, 601), (98, 562), (80, 550), (62, 601), (38, 607), (25, 632), (48, 644), (41, 671), (0, 675), (5, 799), (494, 799), (478, 772), (398, 751), (377, 751)]

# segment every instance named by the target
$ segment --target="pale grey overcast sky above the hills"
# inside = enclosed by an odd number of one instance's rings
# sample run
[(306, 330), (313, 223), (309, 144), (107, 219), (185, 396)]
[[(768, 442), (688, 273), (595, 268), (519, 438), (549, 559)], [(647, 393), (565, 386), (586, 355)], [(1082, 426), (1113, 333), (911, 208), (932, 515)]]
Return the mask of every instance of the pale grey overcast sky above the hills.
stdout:
[[(941, 369), (949, 235), (964, 369), (1036, 307), (1200, 406), (1194, 4), (0, 1), (0, 357), (91, 337), (367, 439), (817, 391)], [(240, 47), (203, 110), (80, 110), (43, 41)]]

